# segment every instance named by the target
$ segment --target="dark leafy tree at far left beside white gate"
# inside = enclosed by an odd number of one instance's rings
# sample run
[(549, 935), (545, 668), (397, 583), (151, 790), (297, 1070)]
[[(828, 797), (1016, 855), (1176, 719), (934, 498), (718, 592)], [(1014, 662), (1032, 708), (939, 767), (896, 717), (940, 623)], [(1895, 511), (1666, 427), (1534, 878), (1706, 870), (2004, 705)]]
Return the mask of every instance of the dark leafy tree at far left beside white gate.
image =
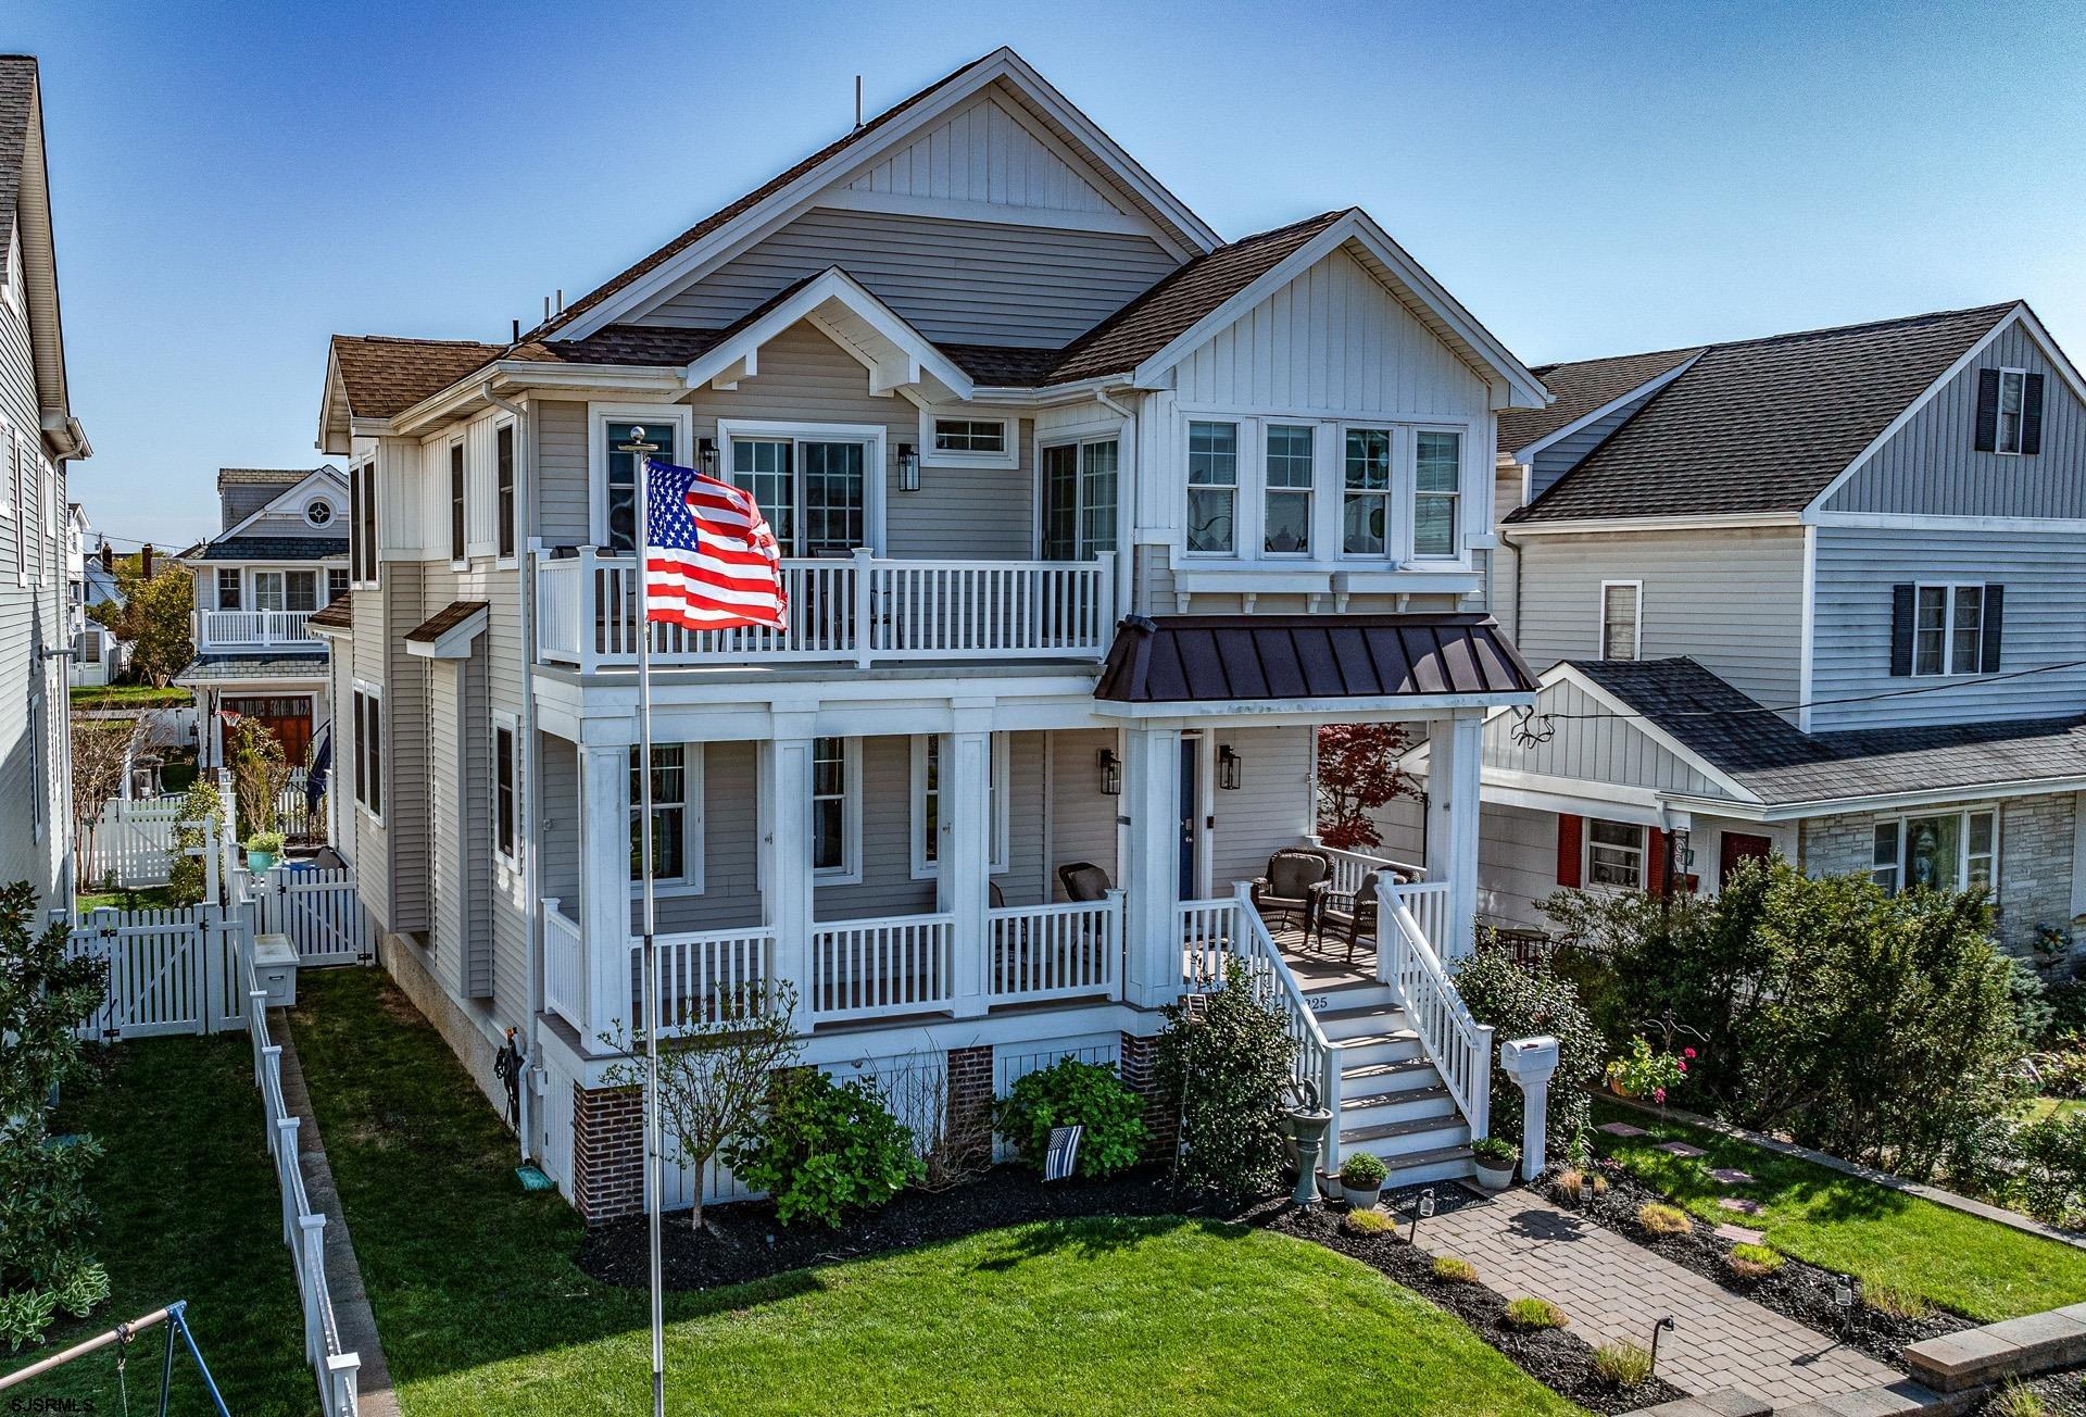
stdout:
[(100, 1008), (106, 966), (67, 958), (67, 929), (33, 931), (35, 891), (0, 889), (0, 1338), (38, 1342), (58, 1308), (86, 1317), (108, 1298), (88, 1254), (86, 1173), (100, 1144), (54, 1144), (50, 1102), (86, 1073), (79, 1023)]

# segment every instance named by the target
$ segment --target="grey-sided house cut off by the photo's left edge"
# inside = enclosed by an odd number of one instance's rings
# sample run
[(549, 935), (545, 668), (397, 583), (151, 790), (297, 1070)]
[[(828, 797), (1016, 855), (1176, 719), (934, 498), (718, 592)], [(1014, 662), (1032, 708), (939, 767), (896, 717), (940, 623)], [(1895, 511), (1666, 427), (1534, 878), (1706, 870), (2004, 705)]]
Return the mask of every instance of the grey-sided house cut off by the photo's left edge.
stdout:
[(65, 386), (35, 58), (0, 54), (0, 883), (73, 904), (65, 664), (67, 463), (88, 438)]

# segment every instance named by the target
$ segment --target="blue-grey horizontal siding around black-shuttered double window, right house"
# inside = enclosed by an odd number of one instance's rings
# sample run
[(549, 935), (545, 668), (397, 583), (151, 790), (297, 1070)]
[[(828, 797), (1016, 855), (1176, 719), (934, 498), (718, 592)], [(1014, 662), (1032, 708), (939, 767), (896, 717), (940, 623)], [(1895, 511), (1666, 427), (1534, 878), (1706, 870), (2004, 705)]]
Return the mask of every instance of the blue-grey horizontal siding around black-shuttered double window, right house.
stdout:
[[(2057, 718), (2086, 701), (2086, 534), (1817, 530), (1811, 730)], [(1967, 580), (2007, 586), (1998, 672), (1952, 678), (1890, 674), (1892, 586)], [(1932, 693), (1907, 695), (1907, 689)], [(1869, 695), (1896, 695), (1869, 699)], [(1867, 699), (1834, 703), (1834, 699)]]

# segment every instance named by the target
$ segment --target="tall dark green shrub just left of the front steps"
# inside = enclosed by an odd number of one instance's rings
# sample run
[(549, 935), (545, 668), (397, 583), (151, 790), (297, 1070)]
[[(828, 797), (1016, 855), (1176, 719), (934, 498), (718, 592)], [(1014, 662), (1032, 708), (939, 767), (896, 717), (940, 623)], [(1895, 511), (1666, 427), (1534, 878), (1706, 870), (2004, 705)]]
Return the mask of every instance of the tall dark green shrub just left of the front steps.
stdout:
[(1254, 998), (1237, 960), (1227, 960), (1224, 987), (1202, 1004), (1166, 1008), (1158, 1083), (1168, 1106), (1181, 1108), (1183, 1187), (1262, 1196), (1281, 1185), (1293, 1058), (1287, 1020)]

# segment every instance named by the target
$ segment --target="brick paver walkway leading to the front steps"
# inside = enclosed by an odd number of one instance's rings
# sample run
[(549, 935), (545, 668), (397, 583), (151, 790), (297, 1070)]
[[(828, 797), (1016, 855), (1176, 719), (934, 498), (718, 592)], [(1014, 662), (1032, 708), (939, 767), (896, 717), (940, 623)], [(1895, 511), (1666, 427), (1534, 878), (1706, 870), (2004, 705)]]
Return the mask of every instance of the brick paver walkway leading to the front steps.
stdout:
[(1421, 1221), (1421, 1248), (1460, 1254), (1506, 1298), (1548, 1298), (1590, 1344), (1650, 1344), (1652, 1325), (1673, 1315), (1658, 1375), (1690, 1394), (1738, 1388), (1790, 1407), (1905, 1377), (1533, 1192)]

